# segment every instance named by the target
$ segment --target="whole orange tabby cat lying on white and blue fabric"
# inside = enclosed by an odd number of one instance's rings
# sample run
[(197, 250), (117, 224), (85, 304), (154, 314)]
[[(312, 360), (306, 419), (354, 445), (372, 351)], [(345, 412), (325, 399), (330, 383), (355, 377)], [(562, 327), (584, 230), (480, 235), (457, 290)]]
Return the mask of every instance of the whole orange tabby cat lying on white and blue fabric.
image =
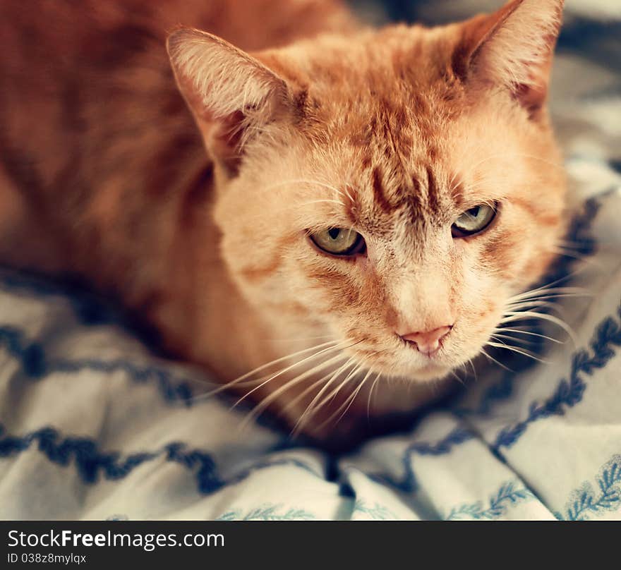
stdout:
[(565, 230), (561, 12), (370, 30), (332, 0), (4, 3), (0, 259), (86, 277), (296, 431), (421, 404), (532, 303)]

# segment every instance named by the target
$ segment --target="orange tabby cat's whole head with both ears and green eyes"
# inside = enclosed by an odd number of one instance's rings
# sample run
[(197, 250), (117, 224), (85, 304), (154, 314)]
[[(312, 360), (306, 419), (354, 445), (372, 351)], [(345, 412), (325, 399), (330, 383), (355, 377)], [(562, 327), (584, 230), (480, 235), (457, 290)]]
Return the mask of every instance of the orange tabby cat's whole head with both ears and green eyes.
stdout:
[(524, 308), (564, 230), (545, 109), (562, 0), (252, 55), (169, 37), (239, 290), (279, 335), (428, 380)]

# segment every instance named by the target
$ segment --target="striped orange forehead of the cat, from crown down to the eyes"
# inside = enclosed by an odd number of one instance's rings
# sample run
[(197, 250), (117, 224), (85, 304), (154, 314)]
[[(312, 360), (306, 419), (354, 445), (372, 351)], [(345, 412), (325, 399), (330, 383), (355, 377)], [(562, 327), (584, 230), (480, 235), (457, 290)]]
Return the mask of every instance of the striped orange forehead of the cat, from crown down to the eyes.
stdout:
[[(313, 40), (265, 59), (294, 86), (296, 132), (312, 140), (299, 162), (319, 149), (312, 174), (352, 195), (345, 200), (352, 222), (444, 223), (477, 198), (459, 174), (475, 170), (469, 151), (493, 152), (490, 116), (452, 75), (458, 41), (448, 28), (397, 26)], [(471, 135), (476, 125), (483, 136)]]

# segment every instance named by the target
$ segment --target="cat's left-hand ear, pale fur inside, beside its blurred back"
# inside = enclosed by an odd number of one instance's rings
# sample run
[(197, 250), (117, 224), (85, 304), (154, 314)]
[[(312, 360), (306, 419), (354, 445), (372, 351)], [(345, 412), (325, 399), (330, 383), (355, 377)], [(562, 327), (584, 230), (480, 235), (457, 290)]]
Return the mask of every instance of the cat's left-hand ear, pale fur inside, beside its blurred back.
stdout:
[(287, 110), (287, 84), (215, 35), (181, 29), (167, 49), (212, 159), (234, 175), (246, 143)]

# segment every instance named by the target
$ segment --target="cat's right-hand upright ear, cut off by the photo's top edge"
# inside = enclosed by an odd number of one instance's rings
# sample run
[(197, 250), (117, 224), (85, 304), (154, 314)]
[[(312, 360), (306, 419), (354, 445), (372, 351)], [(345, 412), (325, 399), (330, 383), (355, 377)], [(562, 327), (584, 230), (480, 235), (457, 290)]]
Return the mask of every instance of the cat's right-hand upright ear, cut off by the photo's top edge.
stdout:
[(563, 0), (513, 0), (490, 16), (471, 20), (464, 33), (471, 48), (467, 81), (507, 87), (536, 116), (548, 95), (562, 6)]

